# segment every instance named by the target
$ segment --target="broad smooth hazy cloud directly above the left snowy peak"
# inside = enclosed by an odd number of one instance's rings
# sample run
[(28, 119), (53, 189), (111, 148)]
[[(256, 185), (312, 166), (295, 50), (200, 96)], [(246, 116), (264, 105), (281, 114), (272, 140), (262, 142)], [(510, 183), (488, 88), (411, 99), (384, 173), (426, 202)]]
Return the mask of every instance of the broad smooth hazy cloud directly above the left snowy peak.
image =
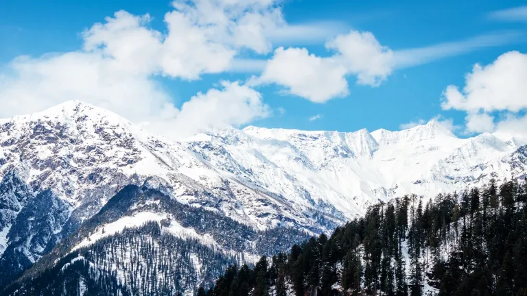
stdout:
[(178, 112), (154, 79), (127, 71), (99, 53), (20, 57), (0, 74), (0, 117), (37, 112), (72, 99), (136, 122)]

